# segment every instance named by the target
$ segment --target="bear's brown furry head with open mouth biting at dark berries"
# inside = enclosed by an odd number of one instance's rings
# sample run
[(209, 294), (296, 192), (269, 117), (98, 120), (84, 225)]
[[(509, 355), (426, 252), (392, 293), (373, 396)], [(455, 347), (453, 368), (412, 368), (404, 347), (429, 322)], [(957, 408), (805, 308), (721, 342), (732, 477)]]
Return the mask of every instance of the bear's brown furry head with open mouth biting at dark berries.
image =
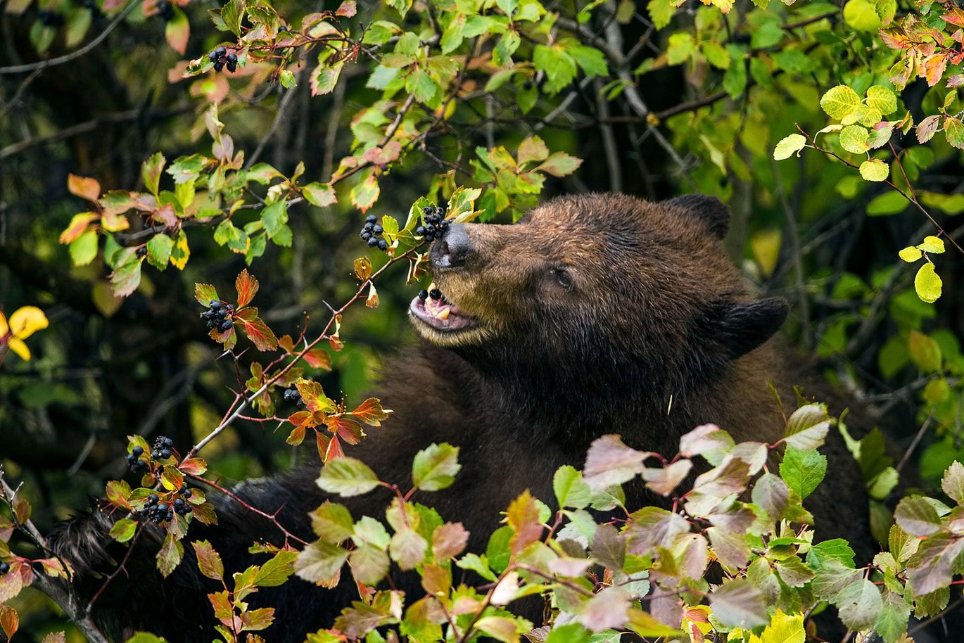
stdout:
[(512, 226), (453, 225), (430, 253), (442, 298), (413, 300), (415, 329), (536, 414), (665, 412), (787, 316), (747, 292), (720, 244), (729, 217), (709, 197), (596, 194)]

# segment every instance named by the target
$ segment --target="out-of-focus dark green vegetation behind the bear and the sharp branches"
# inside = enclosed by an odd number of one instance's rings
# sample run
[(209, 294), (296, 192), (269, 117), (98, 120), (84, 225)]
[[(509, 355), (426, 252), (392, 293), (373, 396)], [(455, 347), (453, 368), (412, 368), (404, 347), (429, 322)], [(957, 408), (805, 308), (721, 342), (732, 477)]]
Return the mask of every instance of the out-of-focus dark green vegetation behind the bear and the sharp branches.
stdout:
[[(339, 24), (358, 38), (376, 20), (424, 36), (441, 31), (439, 21), (456, 4), (492, 15), (517, 6), (419, 0), (408, 11), (411, 2), (359, 3), (358, 14)], [(309, 11), (335, 11), (338, 4), (273, 6), (294, 29)], [(925, 304), (914, 292), (914, 270), (897, 258), (901, 248), (937, 233), (920, 210), (815, 150), (772, 159), (774, 145), (797, 131), (794, 123), (813, 135), (828, 122), (819, 99), (829, 88), (844, 83), (863, 95), (873, 84), (894, 87), (890, 69), (903, 53), (881, 42), (880, 20), (865, 0), (764, 7), (737, 2), (724, 14), (692, 0), (678, 9), (656, 0), (546, 2), (537, 21), (519, 23), (521, 43), (501, 66), (492, 61), (501, 37), (482, 29), (451, 52), (465, 73), (443, 118), (432, 121), (438, 109), (416, 103), (421, 111), (412, 122), (426, 134), (379, 169), (380, 197), (368, 212), (404, 222), (421, 196), (444, 201), (458, 184), (488, 189), (470, 164), (475, 148), (501, 146), (515, 155), (532, 135), (582, 165), (574, 174), (546, 176), (541, 190), (510, 191), (511, 205), (487, 218), (509, 222), (538, 200), (574, 192), (719, 196), (735, 215), (727, 239), (734, 260), (761, 290), (793, 305), (790, 342), (815, 354), (835, 384), (886, 417), (898, 444), (907, 446), (926, 423), (911, 458), (932, 480), (964, 448), (958, 287), (964, 257), (950, 243), (948, 253), (935, 257), (944, 294)], [(125, 436), (164, 435), (187, 444), (217, 425), (233, 399), (234, 364), (218, 360), (194, 283), (213, 283), (224, 296), (246, 266), (244, 255), (214, 241), (211, 228), (191, 228), (183, 270), (145, 265), (137, 290), (115, 297), (109, 266), (99, 259), (74, 266), (58, 241), (71, 218), (90, 207), (68, 192), (67, 175), (94, 177), (104, 192), (143, 190), (141, 164), (155, 151), (168, 159), (209, 152), (204, 114), (217, 102), (225, 132), (249, 159), (256, 155), (285, 176), (303, 162), (305, 179), (324, 183), (341, 159), (366, 147), (353, 120), (365, 110), (391, 116), (407, 95), (405, 88), (370, 87), (380, 54), (363, 49), (321, 95), (312, 95), (308, 82), (317, 52), (302, 65), (297, 51), (290, 59), (293, 88), (278, 82), (272, 61), (236, 74), (182, 78), (184, 59), (203, 60), (232, 41), (209, 17), (220, 8), (199, 0), (0, 2), (0, 308), (9, 316), (36, 305), (50, 320), (28, 341), (33, 359), (8, 355), (0, 370), (0, 463), (9, 479), (23, 481), (21, 493), (31, 499), (41, 530), (102, 495), (105, 479), (130, 475)], [(178, 30), (188, 24), (189, 36), (172, 34), (172, 23)], [(80, 51), (101, 34), (102, 41)], [(182, 55), (168, 40), (177, 44), (183, 36)], [(376, 44), (387, 49), (398, 35), (392, 38)], [(534, 55), (538, 43), (565, 39), (602, 53), (582, 52), (589, 58), (577, 68)], [(423, 42), (438, 53), (438, 39)], [(34, 65), (58, 56), (68, 60)], [(493, 88), (495, 74), (510, 64), (516, 72)], [(566, 65), (573, 77), (554, 79), (553, 70)], [(945, 104), (947, 93), (943, 84), (911, 80), (892, 118), (909, 111), (920, 121)], [(959, 103), (950, 112), (956, 109)], [(824, 137), (824, 146), (856, 158), (835, 135)], [(943, 137), (919, 145), (913, 133), (898, 132), (892, 145), (875, 152), (888, 163), (892, 152), (899, 155), (902, 169), (893, 164), (892, 179), (906, 174), (945, 238), (960, 239), (960, 150)], [(278, 335), (297, 335), (306, 314), (314, 323), (327, 319), (326, 303), (336, 308), (354, 294), (355, 257), (384, 262), (358, 238), (365, 214), (352, 202), (355, 181), (335, 186), (335, 205), (293, 203), (290, 247), (269, 244), (254, 258), (250, 271), (261, 284), (254, 305)], [(138, 216), (130, 221), (130, 232), (144, 226)], [(405, 311), (416, 287), (405, 284), (399, 265), (381, 281), (380, 308), (359, 306), (346, 315), (345, 346), (332, 352), (331, 372), (308, 371), (330, 395), (340, 390), (350, 402), (361, 401), (380, 362), (414, 340)], [(253, 352), (242, 356), (242, 366)], [(235, 481), (289, 467), (287, 432), (274, 429), (275, 423), (236, 422), (205, 452), (210, 468)], [(18, 601), (43, 599), (25, 593)], [(45, 609), (20, 611), (19, 640), (40, 640), (43, 631), (62, 627)]]

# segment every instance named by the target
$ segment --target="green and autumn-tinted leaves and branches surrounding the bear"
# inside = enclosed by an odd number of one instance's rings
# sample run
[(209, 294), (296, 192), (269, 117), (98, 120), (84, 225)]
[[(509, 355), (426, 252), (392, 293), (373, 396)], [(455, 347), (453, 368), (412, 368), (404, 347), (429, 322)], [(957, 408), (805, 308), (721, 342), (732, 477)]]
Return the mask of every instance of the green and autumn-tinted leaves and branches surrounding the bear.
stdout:
[[(6, 94), (13, 98), (0, 108), (0, 115), (12, 110), (12, 124), (0, 130), (11, 137), (0, 147), (0, 160), (57, 145), (112, 119), (149, 136), (135, 145), (111, 130), (103, 141), (81, 139), (67, 152), (57, 147), (69, 162), (55, 175), (72, 197), (61, 195), (49, 221), (56, 222), (66, 249), (56, 248), (52, 228), (16, 222), (14, 234), (36, 242), (36, 255), (23, 255), (19, 248), (8, 250), (6, 228), (0, 228), (5, 285), (17, 284), (4, 289), (3, 303), (38, 303), (51, 319), (58, 319), (56, 313), (65, 322), (38, 339), (45, 341), (41, 358), (30, 365), (39, 364), (40, 375), (23, 363), (3, 364), (0, 394), (15, 400), (8, 408), (24, 410), (14, 417), (5, 415), (8, 405), (0, 405), (5, 435), (13, 435), (14, 426), (20, 435), (20, 424), (65, 427), (77, 417), (108, 417), (85, 427), (98, 446), (105, 431), (141, 426), (145, 435), (154, 432), (157, 416), (184, 402), (187, 393), (178, 397), (168, 390), (167, 377), (148, 375), (167, 375), (175, 362), (188, 373), (184, 381), (193, 382), (201, 370), (213, 375), (215, 385), (201, 382), (195, 398), (210, 397), (212, 389), (218, 396), (209, 404), (182, 404), (191, 411), (179, 422), (169, 417), (169, 428), (176, 423), (194, 429), (181, 434), (195, 444), (186, 453), (154, 457), (144, 437), (128, 436), (124, 455), (143, 463), (137, 469), (142, 475), (133, 485), (112, 480), (103, 494), (105, 507), (123, 515), (112, 531), (118, 542), (140, 537), (151, 496), (170, 506), (183, 498), (188, 481), (230, 496), (218, 482), (221, 472), (243, 477), (257, 457), (249, 452), (232, 465), (226, 453), (245, 442), (239, 435), (254, 435), (238, 433), (246, 422), (283, 427), (289, 445), (313, 433), (325, 463), (318, 484), (329, 493), (392, 494), (384, 520), (353, 516), (335, 502), (322, 505), (311, 514), (313, 542), (301, 542), (278, 524), (283, 546), (257, 550), (263, 556), (258, 564), (226, 578), (217, 551), (204, 542), (182, 542), (194, 520), (217, 520), (203, 492), (192, 487), (189, 511), (162, 521), (158, 569), (172, 573), (185, 546), (194, 550), (201, 574), (222, 585), (210, 599), (212, 619), (226, 641), (260, 640), (250, 632), (273, 621), (271, 608), (249, 609), (245, 601), (259, 587), (292, 575), (331, 584), (342, 574), (360, 583), (362, 601), (333, 624), (338, 633), (315, 632), (309, 641), (390, 640), (389, 630), (418, 641), (515, 641), (523, 634), (549, 643), (603, 641), (620, 631), (693, 641), (710, 631), (731, 641), (802, 641), (804, 614), (823, 603), (837, 606), (852, 630), (872, 631), (888, 643), (900, 640), (911, 613), (925, 618), (949, 603), (964, 547), (956, 525), (964, 496), (964, 468), (956, 461), (964, 460), (964, 450), (954, 432), (964, 356), (960, 328), (941, 328), (951, 325), (949, 310), (959, 303), (948, 302), (953, 293), (942, 288), (945, 281), (959, 281), (959, 256), (942, 254), (946, 245), (959, 254), (958, 230), (948, 228), (951, 217), (964, 211), (959, 186), (947, 181), (959, 174), (958, 150), (964, 147), (957, 89), (964, 80), (964, 13), (952, 3), (893, 0), (847, 0), (843, 7), (767, 0), (702, 5), (651, 0), (643, 13), (629, 0), (581, 8), (533, 0), (390, 0), (370, 7), (348, 0), (306, 12), (297, 3), (230, 0), (208, 19), (206, 8), (189, 0), (9, 0), (4, 20), (22, 26), (26, 40), (12, 49), (26, 59), (63, 50), (69, 60), (64, 67), (56, 56), (44, 59), (49, 67), (26, 63), (29, 68), (9, 71), (19, 61), (0, 67), (0, 76), (31, 73), (17, 77)], [(5, 33), (16, 33), (16, 26), (4, 26)], [(147, 45), (138, 48), (112, 32), (147, 34)], [(86, 51), (98, 33), (112, 38), (100, 50)], [(218, 67), (224, 66), (212, 56), (218, 47), (236, 56), (236, 69)], [(63, 110), (56, 108), (63, 96), (44, 102), (34, 74), (49, 77), (83, 60), (97, 60), (109, 70), (104, 77), (125, 84), (116, 94), (96, 94), (88, 121), (94, 126), (84, 129), (87, 123), (80, 122), (74, 131), (78, 123), (61, 121)], [(85, 74), (68, 75), (61, 83), (90, 83)], [(84, 92), (71, 87), (78, 103), (88, 90), (94, 95), (86, 85)], [(35, 90), (35, 110), (17, 106), (21, 95)], [(102, 116), (114, 101), (119, 109), (123, 105), (127, 98), (118, 94), (129, 94), (129, 109)], [(350, 114), (343, 117), (346, 102)], [(286, 115), (299, 114), (308, 123), (311, 110), (322, 108), (330, 125), (288, 129)], [(21, 141), (21, 130), (33, 132), (31, 138)], [(916, 142), (909, 138), (912, 131)], [(296, 138), (302, 143), (293, 143)], [(98, 159), (134, 151), (114, 167), (85, 161), (92, 156), (89, 146)], [(801, 154), (806, 147), (821, 154)], [(260, 160), (269, 148), (270, 163)], [(40, 153), (33, 165), (2, 179), (8, 181), (5, 194), (22, 191), (26, 196), (17, 202), (23, 211), (44, 222), (46, 200), (11, 176), (46, 172), (48, 160)], [(790, 190), (785, 182), (803, 187)], [(390, 421), (390, 410), (360, 394), (370, 370), (363, 348), (365, 342), (379, 349), (391, 343), (372, 338), (391, 336), (394, 328), (384, 321), (390, 313), (371, 310), (383, 298), (395, 299), (399, 285), (382, 280), (383, 274), (401, 263), (408, 268), (406, 284), (424, 275), (426, 249), (415, 233), (423, 224), (422, 208), (446, 203), (454, 222), (508, 222), (545, 194), (588, 187), (650, 197), (701, 191), (735, 203), (749, 194), (757, 214), (748, 228), (736, 231), (736, 255), (748, 249), (744, 258), (754, 277), (798, 294), (803, 343), (816, 343), (818, 354), (835, 365), (832, 376), (866, 390), (865, 398), (884, 411), (900, 395), (911, 400), (905, 415), (918, 420), (913, 428), (921, 426), (922, 436), (934, 427), (922, 470), (940, 482), (944, 496), (903, 498), (893, 526), (882, 501), (897, 489), (899, 465), (884, 455), (877, 432), (850, 441), (870, 496), (881, 501), (874, 526), (889, 545), (872, 564), (856, 569), (843, 542), (813, 542), (802, 503), (832, 474), (817, 449), (832, 430), (849, 439), (844, 423), (835, 427), (817, 404), (790, 415), (785, 438), (776, 444), (734, 444), (712, 425), (683, 436), (675, 455), (642, 453), (615, 436), (602, 437), (584, 469), (556, 472), (557, 511), (549, 509), (553, 498), (522, 494), (506, 509), (506, 524), (493, 525), (484, 553), (465, 550), (468, 533), (458, 516), (442, 517), (430, 506), (431, 493), (452, 484), (459, 458), (467, 454), (449, 444), (427, 447), (415, 458), (411, 484), (381, 480), (351, 457), (351, 445), (366, 438), (365, 426)], [(834, 236), (841, 198), (847, 208), (866, 211), (866, 225), (875, 226), (870, 238), (860, 232), (844, 240)], [(898, 217), (908, 205), (911, 213)], [(828, 211), (837, 214), (822, 219)], [(359, 213), (369, 212), (380, 212), (388, 247), (358, 256), (349, 245), (357, 243), (354, 231), (341, 228), (357, 228)], [(346, 222), (351, 225), (342, 226)], [(801, 226), (815, 230), (803, 244)], [(826, 244), (828, 237), (834, 243)], [(866, 255), (838, 260), (855, 247)], [(920, 262), (913, 277), (894, 255)], [(269, 285), (260, 288), (246, 269), (238, 274), (236, 262), (228, 265), (231, 259), (252, 267)], [(306, 261), (314, 261), (305, 271), (314, 275), (340, 276), (353, 265), (356, 281), (299, 286), (288, 298), (290, 283), (304, 281), (291, 276)], [(167, 270), (171, 265), (176, 271)], [(64, 285), (40, 282), (38, 266), (56, 268), (51, 274)], [(273, 278), (276, 268), (287, 271), (283, 278)], [(194, 292), (204, 308), (228, 304), (212, 283), (234, 282), (231, 326), (209, 333), (216, 350), (210, 341), (201, 343), (202, 335), (182, 331), (198, 321), (197, 308), (178, 309), (195, 280), (201, 281)], [(259, 288), (260, 309), (251, 306)], [(369, 308), (363, 318), (350, 309), (362, 300)], [(305, 308), (324, 310), (328, 301), (346, 303), (328, 306), (331, 315), (320, 330), (310, 316), (299, 316)], [(96, 319), (71, 331), (65, 307)], [(282, 308), (298, 312), (284, 317)], [(273, 321), (280, 315), (279, 323)], [(26, 361), (31, 356), (23, 339), (45, 328), (47, 318), (31, 306), (9, 319), (0, 314), (0, 362), (8, 349)], [(284, 332), (276, 335), (272, 326)], [(94, 334), (102, 335), (93, 347), (74, 352), (78, 337)], [(240, 347), (239, 334), (246, 337)], [(118, 343), (125, 337), (142, 351), (137, 358), (119, 357), (134, 351)], [(246, 351), (248, 341), (256, 352)], [(190, 358), (181, 350), (187, 342), (194, 351)], [(209, 368), (219, 355), (228, 358), (225, 370), (231, 371), (221, 377)], [(100, 379), (127, 378), (138, 393), (156, 389), (170, 397), (162, 396), (147, 414), (143, 397), (128, 393), (135, 400), (128, 405), (132, 411), (111, 415), (124, 406), (117, 390), (97, 378), (76, 388), (58, 380), (60, 370), (94, 362), (92, 356), (120, 364), (120, 372), (105, 371)], [(221, 391), (225, 384), (233, 387), (229, 393)], [(346, 393), (330, 397), (326, 388)], [(889, 395), (893, 388), (900, 395)], [(278, 415), (282, 389), (297, 390), (304, 409)], [(249, 406), (259, 416), (243, 415)], [(22, 416), (30, 421), (21, 422)], [(67, 462), (57, 470), (67, 469), (78, 452), (83, 455), (73, 473), (108, 467), (110, 458), (120, 458), (120, 435), (108, 436), (107, 446), (93, 455), (91, 446), (80, 448), (88, 440), (83, 435), (67, 446)], [(220, 441), (228, 447), (218, 451)], [(14, 472), (23, 472), (16, 466), (23, 461), (29, 473), (28, 456), (38, 449), (28, 444), (4, 454)], [(212, 456), (201, 459), (198, 452), (208, 444)], [(270, 446), (261, 450), (280, 453), (283, 444)], [(134, 456), (135, 448), (140, 455)], [(94, 467), (97, 457), (107, 459)], [(207, 460), (219, 473), (208, 473)], [(268, 457), (257, 466), (281, 464)], [(46, 464), (33, 466), (43, 470)], [(44, 484), (35, 487), (50, 487), (50, 472), (43, 475), (38, 480)], [(87, 476), (90, 491), (97, 475)], [(694, 478), (691, 485), (687, 476)], [(69, 489), (71, 477), (50, 479)], [(672, 510), (622, 506), (620, 487), (634, 482), (665, 496)], [(75, 492), (64, 504), (79, 504), (83, 490)], [(9, 518), (0, 517), (0, 561), (10, 566), (0, 575), (0, 629), (8, 638), (21, 629), (17, 609), (30, 610), (7, 603), (23, 587), (39, 584), (37, 576), (70, 574), (35, 542), (28, 527), (31, 493), (30, 485), (5, 491)], [(710, 582), (710, 566), (722, 570), (721, 582)], [(482, 580), (456, 584), (453, 567)], [(379, 584), (399, 573), (419, 575), (425, 595), (402, 596)], [(556, 610), (555, 620), (542, 628), (512, 612), (513, 603), (537, 594)], [(59, 634), (47, 639), (65, 640)], [(140, 633), (131, 640), (158, 639)]]

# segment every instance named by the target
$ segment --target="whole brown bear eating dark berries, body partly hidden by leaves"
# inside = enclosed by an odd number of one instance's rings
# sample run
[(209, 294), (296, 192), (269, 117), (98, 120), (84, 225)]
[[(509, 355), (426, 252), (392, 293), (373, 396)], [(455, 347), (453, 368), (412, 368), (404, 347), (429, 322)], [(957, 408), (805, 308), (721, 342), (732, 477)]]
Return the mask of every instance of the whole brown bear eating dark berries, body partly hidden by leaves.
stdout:
[[(706, 422), (737, 442), (778, 440), (784, 422), (768, 383), (790, 383), (781, 381), (784, 358), (769, 339), (788, 306), (748, 292), (720, 244), (728, 221), (723, 203), (707, 197), (653, 203), (603, 194), (548, 201), (512, 226), (450, 226), (430, 253), (441, 294), (416, 297), (410, 308), (422, 341), (390, 364), (377, 393), (394, 414), (350, 455), (381, 479), (404, 482), (419, 449), (458, 445), (455, 484), (422, 501), (464, 522), (469, 549), (480, 551), (513, 498), (529, 489), (550, 502), (553, 471), (580, 466), (604, 434), (666, 455)], [(846, 537), (869, 560), (860, 472), (843, 444), (826, 451), (833, 480), (807, 500), (817, 538)], [(325, 499), (317, 473), (296, 469), (235, 493), (280, 510), (279, 520), (310, 540), (307, 514)], [(628, 494), (630, 508), (665, 502), (642, 487)], [(372, 496), (346, 504), (356, 517), (381, 516), (387, 500)], [(228, 571), (251, 563), (252, 541), (278, 540), (276, 527), (238, 503), (216, 502), (220, 522), (193, 524), (187, 538), (210, 540)], [(82, 593), (100, 587), (94, 570), (113, 569), (106, 561), (123, 555), (104, 535), (109, 523), (94, 516), (56, 534), (81, 572)], [(201, 577), (190, 555), (162, 582), (156, 548), (141, 547), (128, 560), (131, 576), (115, 579), (95, 603), (96, 620), (117, 640), (150, 630), (179, 643), (210, 641), (205, 594), (220, 585)], [(267, 640), (300, 643), (305, 632), (330, 626), (357, 598), (349, 585), (325, 590), (292, 578), (254, 595), (255, 606), (278, 609)]]

